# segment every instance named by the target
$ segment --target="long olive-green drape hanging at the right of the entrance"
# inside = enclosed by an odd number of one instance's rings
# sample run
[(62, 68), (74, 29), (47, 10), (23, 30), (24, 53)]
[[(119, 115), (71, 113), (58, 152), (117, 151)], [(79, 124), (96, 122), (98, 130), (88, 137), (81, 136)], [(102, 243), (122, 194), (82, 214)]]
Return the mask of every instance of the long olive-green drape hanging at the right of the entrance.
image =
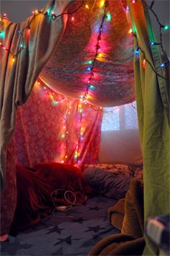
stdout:
[[(155, 42), (144, 1), (129, 1), (135, 33), (135, 91), (138, 105), (140, 142), (143, 150), (145, 221), (149, 216), (169, 213), (169, 81), (161, 68), (161, 49)], [(146, 59), (146, 66), (143, 63)], [(149, 65), (149, 63), (151, 65)], [(157, 74), (151, 68), (156, 70)], [(160, 75), (160, 76), (159, 76)], [(163, 77), (161, 77), (163, 76)], [(165, 78), (165, 79), (164, 79)], [(146, 239), (143, 255), (157, 255)]]

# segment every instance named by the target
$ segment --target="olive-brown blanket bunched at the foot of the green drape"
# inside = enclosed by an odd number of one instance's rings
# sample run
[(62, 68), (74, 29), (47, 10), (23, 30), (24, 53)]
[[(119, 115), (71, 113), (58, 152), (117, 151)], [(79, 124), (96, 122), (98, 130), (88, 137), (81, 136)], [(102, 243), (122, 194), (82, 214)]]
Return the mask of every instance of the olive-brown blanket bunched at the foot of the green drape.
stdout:
[[(123, 212), (122, 200), (117, 208)], [(142, 255), (145, 247), (143, 213), (143, 180), (133, 178), (125, 198), (121, 234), (102, 239), (94, 245), (89, 255)]]

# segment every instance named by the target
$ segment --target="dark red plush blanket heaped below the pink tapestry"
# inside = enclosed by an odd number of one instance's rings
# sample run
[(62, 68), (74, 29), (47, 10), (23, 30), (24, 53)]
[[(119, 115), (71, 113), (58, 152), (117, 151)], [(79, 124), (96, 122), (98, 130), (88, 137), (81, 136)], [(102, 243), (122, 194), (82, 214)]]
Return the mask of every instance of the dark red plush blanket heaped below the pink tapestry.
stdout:
[[(84, 195), (93, 195), (80, 169), (71, 164), (43, 162), (31, 168), (17, 165), (17, 208), (11, 231), (19, 231), (37, 224), (53, 209), (51, 193), (57, 189), (71, 190), (76, 203), (84, 203)], [(66, 200), (58, 200), (66, 204)]]

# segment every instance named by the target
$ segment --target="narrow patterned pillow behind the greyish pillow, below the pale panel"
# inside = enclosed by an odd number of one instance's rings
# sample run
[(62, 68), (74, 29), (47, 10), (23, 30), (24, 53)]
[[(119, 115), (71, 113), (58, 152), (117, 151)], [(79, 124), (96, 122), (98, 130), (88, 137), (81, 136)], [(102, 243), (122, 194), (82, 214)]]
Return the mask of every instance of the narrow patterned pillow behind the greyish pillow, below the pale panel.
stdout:
[(86, 168), (94, 167), (102, 169), (107, 172), (112, 172), (119, 175), (125, 175), (126, 177), (141, 177), (143, 174), (142, 166), (135, 166), (133, 164), (88, 164)]

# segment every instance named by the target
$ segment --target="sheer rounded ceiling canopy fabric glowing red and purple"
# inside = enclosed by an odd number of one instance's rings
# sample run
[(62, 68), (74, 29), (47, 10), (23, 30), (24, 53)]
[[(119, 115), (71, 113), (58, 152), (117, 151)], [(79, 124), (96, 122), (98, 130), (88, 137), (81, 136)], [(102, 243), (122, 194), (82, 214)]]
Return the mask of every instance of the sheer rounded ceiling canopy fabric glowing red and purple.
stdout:
[[(135, 98), (133, 79), (133, 37), (126, 1), (109, 0), (107, 12), (111, 20), (104, 21), (99, 56), (94, 64), (88, 102), (99, 106), (117, 106)], [(81, 1), (73, 3), (73, 12)], [(78, 12), (68, 16), (66, 30), (55, 53), (40, 74), (40, 78), (55, 92), (80, 98), (89, 80), (86, 61), (93, 61), (104, 9), (101, 1), (85, 1)], [(72, 19), (73, 18), (73, 19)], [(89, 65), (90, 67), (91, 65)]]

